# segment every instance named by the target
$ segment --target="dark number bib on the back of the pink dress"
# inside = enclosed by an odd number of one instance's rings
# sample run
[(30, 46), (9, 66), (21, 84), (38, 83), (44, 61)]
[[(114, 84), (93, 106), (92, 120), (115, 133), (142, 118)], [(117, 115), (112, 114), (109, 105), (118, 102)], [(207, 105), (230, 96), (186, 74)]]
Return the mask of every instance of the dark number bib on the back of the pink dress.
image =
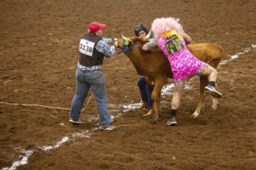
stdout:
[(169, 55), (172, 55), (184, 48), (181, 39), (178, 39), (178, 36), (175, 34), (168, 37), (168, 42), (164, 44), (164, 47)]

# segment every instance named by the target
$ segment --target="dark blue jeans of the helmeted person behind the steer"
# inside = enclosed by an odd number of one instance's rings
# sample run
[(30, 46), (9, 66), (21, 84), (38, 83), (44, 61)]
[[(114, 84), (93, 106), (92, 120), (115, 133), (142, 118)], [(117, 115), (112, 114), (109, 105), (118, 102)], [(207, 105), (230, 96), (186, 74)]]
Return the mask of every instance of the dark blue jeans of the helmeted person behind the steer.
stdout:
[(148, 106), (152, 108), (151, 93), (153, 91), (153, 88), (147, 85), (144, 77), (140, 77), (137, 83), (140, 90), (141, 100), (143, 102), (148, 102)]

